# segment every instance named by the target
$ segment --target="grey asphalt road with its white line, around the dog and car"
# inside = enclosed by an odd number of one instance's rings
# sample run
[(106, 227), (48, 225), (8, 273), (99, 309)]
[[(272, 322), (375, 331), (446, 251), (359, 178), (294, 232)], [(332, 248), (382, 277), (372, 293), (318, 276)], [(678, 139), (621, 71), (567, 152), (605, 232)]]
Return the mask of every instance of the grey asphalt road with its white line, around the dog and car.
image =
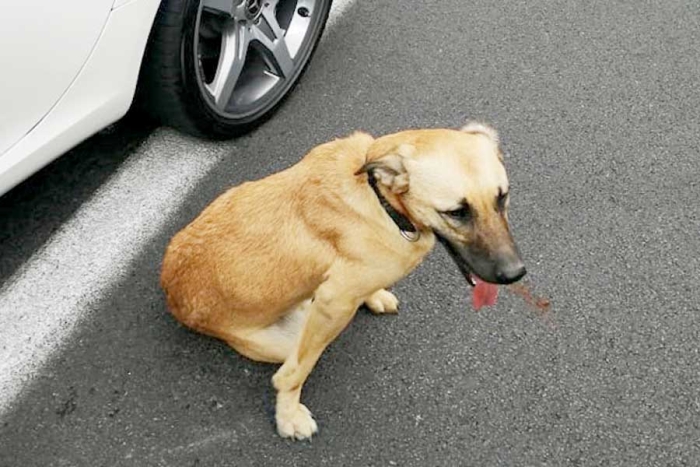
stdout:
[[(691, 0), (358, 1), (252, 135), (91, 138), (0, 199), (0, 466), (699, 465), (699, 44)], [(550, 309), (474, 313), (435, 250), (322, 357), (318, 436), (280, 439), (275, 368), (167, 314), (166, 242), (316, 144), (467, 118)]]

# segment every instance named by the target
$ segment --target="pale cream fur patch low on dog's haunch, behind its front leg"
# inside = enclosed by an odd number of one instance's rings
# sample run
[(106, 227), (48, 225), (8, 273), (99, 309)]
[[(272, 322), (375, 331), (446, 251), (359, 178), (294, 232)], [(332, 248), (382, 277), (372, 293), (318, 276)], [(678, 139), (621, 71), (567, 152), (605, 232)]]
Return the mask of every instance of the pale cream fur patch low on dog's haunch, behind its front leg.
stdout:
[(226, 339), (238, 353), (252, 360), (283, 363), (297, 346), (309, 313), (310, 300), (302, 302), (279, 321), (254, 331), (237, 332)]

